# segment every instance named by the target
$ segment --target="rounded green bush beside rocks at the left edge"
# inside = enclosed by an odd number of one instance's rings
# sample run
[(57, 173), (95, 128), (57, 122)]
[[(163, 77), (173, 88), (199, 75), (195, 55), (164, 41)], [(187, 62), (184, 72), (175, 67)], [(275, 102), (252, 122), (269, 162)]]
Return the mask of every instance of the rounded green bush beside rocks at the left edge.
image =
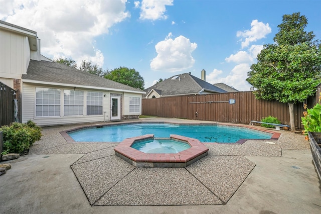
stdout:
[(3, 132), (4, 138), (2, 154), (27, 151), (42, 136), (41, 128), (32, 121), (26, 124), (12, 123), (10, 126), (2, 126), (0, 131)]

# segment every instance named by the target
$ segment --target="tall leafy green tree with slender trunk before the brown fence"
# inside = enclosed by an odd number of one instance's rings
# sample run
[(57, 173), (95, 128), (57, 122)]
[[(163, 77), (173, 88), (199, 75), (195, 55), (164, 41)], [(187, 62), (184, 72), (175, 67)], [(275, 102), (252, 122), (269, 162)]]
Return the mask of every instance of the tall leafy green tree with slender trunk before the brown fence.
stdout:
[(264, 45), (246, 79), (257, 88), (257, 99), (288, 103), (291, 130), (295, 130), (294, 103), (313, 95), (320, 82), (321, 44), (312, 41), (313, 32), (304, 31), (306, 25), (300, 13), (283, 15), (275, 43)]

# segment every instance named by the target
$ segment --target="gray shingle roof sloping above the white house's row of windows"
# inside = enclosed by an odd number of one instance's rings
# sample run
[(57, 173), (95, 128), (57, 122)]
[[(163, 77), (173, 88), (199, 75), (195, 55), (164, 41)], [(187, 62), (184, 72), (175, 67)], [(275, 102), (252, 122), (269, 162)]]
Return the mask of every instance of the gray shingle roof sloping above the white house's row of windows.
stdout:
[(22, 75), (24, 81), (48, 82), (48, 84), (77, 85), (86, 88), (105, 88), (120, 91), (135, 91), (144, 93), (142, 90), (121, 84), (88, 72), (84, 72), (57, 62), (30, 60), (27, 74)]

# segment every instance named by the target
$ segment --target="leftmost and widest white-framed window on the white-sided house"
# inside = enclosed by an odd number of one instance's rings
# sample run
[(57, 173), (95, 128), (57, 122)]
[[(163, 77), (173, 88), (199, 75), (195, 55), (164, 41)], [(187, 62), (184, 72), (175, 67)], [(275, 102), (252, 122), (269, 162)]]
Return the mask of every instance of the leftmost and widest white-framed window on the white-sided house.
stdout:
[(36, 88), (36, 117), (60, 116), (60, 89)]

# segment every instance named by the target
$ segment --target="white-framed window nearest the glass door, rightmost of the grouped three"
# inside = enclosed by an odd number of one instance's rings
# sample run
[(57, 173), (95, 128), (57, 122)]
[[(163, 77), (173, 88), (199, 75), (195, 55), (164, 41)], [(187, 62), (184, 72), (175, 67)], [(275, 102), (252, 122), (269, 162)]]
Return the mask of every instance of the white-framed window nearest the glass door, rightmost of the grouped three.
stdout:
[(102, 115), (102, 92), (87, 92), (87, 115)]

